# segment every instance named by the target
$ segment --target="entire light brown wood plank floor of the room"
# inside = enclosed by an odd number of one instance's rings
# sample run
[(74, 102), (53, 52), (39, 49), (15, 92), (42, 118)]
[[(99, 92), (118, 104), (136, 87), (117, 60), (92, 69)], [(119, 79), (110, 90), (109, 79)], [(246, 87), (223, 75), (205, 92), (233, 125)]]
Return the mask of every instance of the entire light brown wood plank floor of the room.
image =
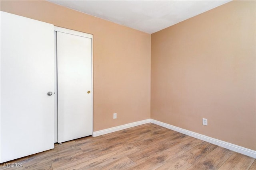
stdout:
[[(22, 168), (4, 168), (7, 163)], [(148, 123), (99, 137), (55, 144), (55, 149), (1, 164), (1, 169), (255, 170), (254, 158)]]

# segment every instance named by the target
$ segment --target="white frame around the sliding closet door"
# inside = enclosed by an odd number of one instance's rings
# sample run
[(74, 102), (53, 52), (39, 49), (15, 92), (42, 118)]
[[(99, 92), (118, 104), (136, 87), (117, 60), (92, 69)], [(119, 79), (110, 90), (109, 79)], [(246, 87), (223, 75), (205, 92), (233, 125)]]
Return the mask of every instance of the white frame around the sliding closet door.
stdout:
[[(54, 75), (55, 76), (55, 91), (57, 92), (57, 95), (56, 95), (56, 98), (55, 98), (55, 118), (56, 120), (54, 120), (54, 128), (56, 127), (56, 124), (57, 123), (57, 129), (58, 129), (58, 70), (57, 70), (57, 40), (56, 40), (56, 32), (62, 32), (62, 33), (68, 33), (68, 34), (72, 34), (72, 35), (78, 35), (78, 36), (81, 36), (81, 37), (86, 37), (86, 38), (90, 38), (91, 41), (92, 41), (92, 134), (93, 134), (93, 94), (94, 94), (94, 86), (93, 86), (93, 35), (92, 34), (89, 34), (89, 33), (84, 33), (84, 32), (80, 32), (80, 31), (75, 31), (75, 30), (72, 30), (72, 29), (66, 29), (66, 28), (63, 28), (63, 27), (57, 27), (57, 26), (54, 26), (54, 46), (56, 48), (54, 48)], [(56, 130), (56, 129), (55, 129)], [(58, 130), (57, 130), (58, 132)], [(57, 134), (54, 134), (54, 138), (56, 139), (56, 136), (57, 136), (57, 140), (58, 140), (58, 133)], [(58, 141), (55, 143), (58, 143)]]

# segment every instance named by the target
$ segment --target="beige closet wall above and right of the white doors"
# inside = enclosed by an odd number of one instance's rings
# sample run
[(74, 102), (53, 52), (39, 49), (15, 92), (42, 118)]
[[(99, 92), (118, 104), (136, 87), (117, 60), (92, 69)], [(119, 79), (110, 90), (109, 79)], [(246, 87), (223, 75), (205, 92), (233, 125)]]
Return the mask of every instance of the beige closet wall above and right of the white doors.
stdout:
[(150, 118), (150, 34), (47, 1), (1, 0), (1, 10), (93, 34), (94, 131)]

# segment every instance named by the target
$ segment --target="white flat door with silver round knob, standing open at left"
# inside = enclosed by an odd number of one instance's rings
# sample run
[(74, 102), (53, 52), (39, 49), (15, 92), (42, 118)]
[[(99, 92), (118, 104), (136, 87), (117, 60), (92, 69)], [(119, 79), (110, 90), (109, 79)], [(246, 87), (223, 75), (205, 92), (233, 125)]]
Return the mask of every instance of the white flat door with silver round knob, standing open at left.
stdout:
[(54, 148), (53, 30), (1, 11), (1, 162)]

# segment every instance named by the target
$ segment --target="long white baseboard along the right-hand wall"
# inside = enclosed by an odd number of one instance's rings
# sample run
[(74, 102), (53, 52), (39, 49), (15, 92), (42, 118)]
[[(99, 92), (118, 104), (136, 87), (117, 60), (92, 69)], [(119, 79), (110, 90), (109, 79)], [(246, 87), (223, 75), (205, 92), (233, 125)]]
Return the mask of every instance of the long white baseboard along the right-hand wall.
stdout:
[(247, 149), (247, 148), (244, 148), (244, 147), (240, 147), (240, 146), (234, 145), (232, 143), (228, 143), (228, 142), (225, 142), (225, 141), (214, 139), (212, 137), (201, 135), (199, 133), (188, 131), (186, 129), (182, 129), (180, 127), (176, 127), (176, 126), (173, 126), (173, 125), (169, 125), (167, 123), (163, 123), (161, 121), (157, 121), (157, 120), (154, 120), (154, 119), (151, 119), (150, 122), (154, 123), (156, 125), (162, 126), (162, 127), (166, 127), (166, 128), (171, 129), (173, 131), (177, 131), (177, 132), (183, 133), (185, 135), (188, 135), (188, 136), (191, 136), (191, 137), (194, 137), (194, 138), (197, 138), (197, 139), (201, 139), (202, 141), (206, 141), (206, 142), (212, 143), (214, 145), (218, 145), (220, 147), (223, 147), (223, 148), (233, 150), (235, 152), (250, 156), (252, 158), (256, 158), (256, 150), (251, 150), (251, 149)]

